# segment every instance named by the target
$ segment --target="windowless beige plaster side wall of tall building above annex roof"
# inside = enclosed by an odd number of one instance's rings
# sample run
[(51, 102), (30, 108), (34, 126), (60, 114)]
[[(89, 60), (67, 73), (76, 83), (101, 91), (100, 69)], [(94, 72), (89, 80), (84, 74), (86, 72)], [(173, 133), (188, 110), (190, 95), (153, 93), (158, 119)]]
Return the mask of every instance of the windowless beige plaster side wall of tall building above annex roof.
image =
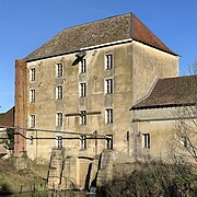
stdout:
[(159, 78), (178, 76), (178, 57), (138, 42), (132, 43), (134, 102), (151, 91)]

